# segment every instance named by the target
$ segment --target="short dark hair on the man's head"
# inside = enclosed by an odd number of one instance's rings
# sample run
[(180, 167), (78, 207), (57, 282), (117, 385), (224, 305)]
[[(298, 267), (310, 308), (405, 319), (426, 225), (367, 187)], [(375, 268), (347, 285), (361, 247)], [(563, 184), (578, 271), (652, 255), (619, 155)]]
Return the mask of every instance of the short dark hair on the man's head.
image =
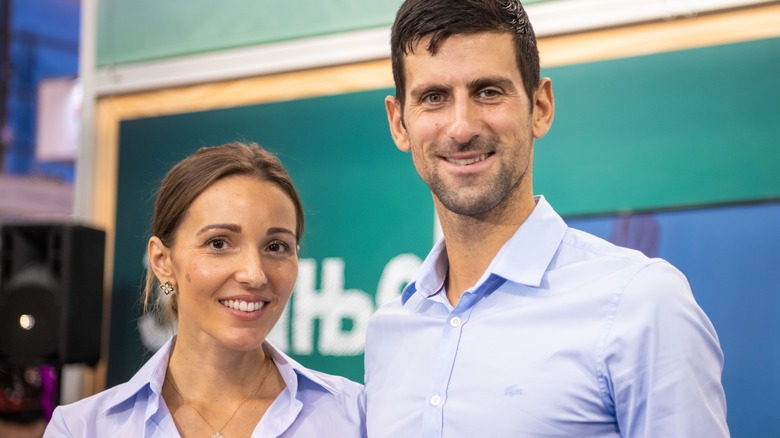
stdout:
[(517, 0), (406, 0), (395, 16), (390, 36), (395, 96), (404, 105), (404, 56), (430, 36), (426, 48), (435, 55), (447, 37), (477, 32), (514, 36), (517, 67), (529, 98), (539, 84), (539, 49), (531, 22)]

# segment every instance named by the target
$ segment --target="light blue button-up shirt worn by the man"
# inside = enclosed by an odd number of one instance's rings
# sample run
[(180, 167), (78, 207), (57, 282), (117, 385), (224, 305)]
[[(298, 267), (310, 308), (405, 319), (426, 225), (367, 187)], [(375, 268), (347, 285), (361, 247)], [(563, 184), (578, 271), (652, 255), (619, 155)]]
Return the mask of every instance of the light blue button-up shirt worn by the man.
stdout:
[(723, 353), (685, 277), (543, 197), (453, 308), (439, 242), (366, 340), (368, 434), (726, 437)]

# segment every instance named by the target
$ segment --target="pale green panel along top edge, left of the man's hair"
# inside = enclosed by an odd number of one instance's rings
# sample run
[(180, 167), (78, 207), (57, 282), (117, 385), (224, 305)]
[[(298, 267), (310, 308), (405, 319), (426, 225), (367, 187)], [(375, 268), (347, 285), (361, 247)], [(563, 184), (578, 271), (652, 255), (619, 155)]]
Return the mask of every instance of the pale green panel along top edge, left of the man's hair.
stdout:
[[(549, 0), (523, 2), (541, 3)], [(98, 67), (389, 28), (401, 0), (98, 0)]]

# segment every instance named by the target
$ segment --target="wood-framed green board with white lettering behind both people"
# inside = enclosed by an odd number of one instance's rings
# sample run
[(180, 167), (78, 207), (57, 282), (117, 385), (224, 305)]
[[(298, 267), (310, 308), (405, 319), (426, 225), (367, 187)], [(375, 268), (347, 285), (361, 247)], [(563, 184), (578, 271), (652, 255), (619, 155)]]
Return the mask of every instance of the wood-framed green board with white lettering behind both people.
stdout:
[[(780, 39), (551, 68), (557, 99), (535, 189), (565, 216), (780, 198)], [(120, 127), (108, 385), (148, 357), (139, 288), (154, 189), (204, 145), (278, 153), (306, 209), (301, 274), (274, 342), (363, 379), (362, 334), (433, 240), (430, 194), (390, 139), (392, 90), (125, 121)]]

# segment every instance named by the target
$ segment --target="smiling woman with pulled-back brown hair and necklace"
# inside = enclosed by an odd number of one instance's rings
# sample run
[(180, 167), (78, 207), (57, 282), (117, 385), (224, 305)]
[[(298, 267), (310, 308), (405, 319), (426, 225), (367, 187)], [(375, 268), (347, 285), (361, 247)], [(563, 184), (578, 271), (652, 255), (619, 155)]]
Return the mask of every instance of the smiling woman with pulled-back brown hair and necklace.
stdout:
[[(365, 436), (362, 386), (308, 370), (265, 338), (298, 273), (303, 208), (261, 147), (201, 148), (160, 186), (145, 306), (177, 335), (127, 383), (53, 414), (45, 436)], [(159, 285), (159, 286), (158, 286)]]

